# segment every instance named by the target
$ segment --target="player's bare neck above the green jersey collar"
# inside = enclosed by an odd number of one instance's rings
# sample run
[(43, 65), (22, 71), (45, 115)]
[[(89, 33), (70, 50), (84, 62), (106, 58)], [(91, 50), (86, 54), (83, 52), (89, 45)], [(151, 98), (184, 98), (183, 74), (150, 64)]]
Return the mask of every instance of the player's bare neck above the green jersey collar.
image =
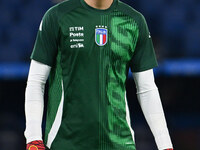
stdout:
[(89, 6), (96, 8), (96, 9), (108, 9), (113, 0), (84, 0)]

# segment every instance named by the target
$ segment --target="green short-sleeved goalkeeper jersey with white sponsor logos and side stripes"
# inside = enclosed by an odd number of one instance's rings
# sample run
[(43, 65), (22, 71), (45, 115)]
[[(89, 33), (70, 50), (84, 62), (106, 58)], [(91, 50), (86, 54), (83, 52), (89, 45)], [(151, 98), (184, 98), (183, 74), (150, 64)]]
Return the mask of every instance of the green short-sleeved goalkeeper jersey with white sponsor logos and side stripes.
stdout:
[(157, 65), (144, 17), (114, 0), (49, 9), (31, 58), (51, 66), (45, 144), (51, 150), (135, 150), (126, 100), (129, 68)]

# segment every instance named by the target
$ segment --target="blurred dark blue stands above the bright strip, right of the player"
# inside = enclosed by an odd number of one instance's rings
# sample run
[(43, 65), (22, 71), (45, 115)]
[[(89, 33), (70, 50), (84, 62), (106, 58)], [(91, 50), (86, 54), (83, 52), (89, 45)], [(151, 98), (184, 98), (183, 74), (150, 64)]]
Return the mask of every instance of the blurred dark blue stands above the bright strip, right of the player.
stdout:
[(162, 48), (160, 55), (200, 57), (199, 0), (141, 0), (139, 9), (147, 18), (155, 44)]

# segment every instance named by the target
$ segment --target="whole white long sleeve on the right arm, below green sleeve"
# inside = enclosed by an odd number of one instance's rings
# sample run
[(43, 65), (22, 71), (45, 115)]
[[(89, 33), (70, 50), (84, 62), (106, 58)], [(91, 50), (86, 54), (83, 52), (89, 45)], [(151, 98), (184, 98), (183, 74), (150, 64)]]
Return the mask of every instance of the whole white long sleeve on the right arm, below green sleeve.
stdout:
[(137, 97), (145, 119), (154, 135), (159, 150), (172, 148), (158, 88), (153, 70), (133, 73)]

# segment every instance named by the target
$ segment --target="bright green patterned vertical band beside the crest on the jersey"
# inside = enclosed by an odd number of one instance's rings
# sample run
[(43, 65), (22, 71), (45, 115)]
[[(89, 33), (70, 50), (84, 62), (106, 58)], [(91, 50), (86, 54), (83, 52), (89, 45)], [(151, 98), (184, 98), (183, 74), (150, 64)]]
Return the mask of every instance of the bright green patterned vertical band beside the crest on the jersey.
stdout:
[[(102, 65), (106, 79), (105, 95), (108, 105), (108, 129), (112, 142), (133, 149), (134, 142), (126, 121), (125, 82), (128, 72), (128, 61), (134, 51), (138, 37), (136, 22), (123, 12), (114, 10), (109, 16), (102, 16), (103, 24), (110, 26), (110, 46), (104, 49)], [(124, 40), (128, 39), (128, 40)], [(131, 48), (133, 49), (131, 49)], [(104, 59), (107, 58), (107, 61)], [(123, 137), (123, 138), (122, 138)], [(125, 144), (129, 143), (129, 145)], [(116, 148), (120, 149), (119, 146)], [(121, 148), (123, 149), (123, 148)]]

